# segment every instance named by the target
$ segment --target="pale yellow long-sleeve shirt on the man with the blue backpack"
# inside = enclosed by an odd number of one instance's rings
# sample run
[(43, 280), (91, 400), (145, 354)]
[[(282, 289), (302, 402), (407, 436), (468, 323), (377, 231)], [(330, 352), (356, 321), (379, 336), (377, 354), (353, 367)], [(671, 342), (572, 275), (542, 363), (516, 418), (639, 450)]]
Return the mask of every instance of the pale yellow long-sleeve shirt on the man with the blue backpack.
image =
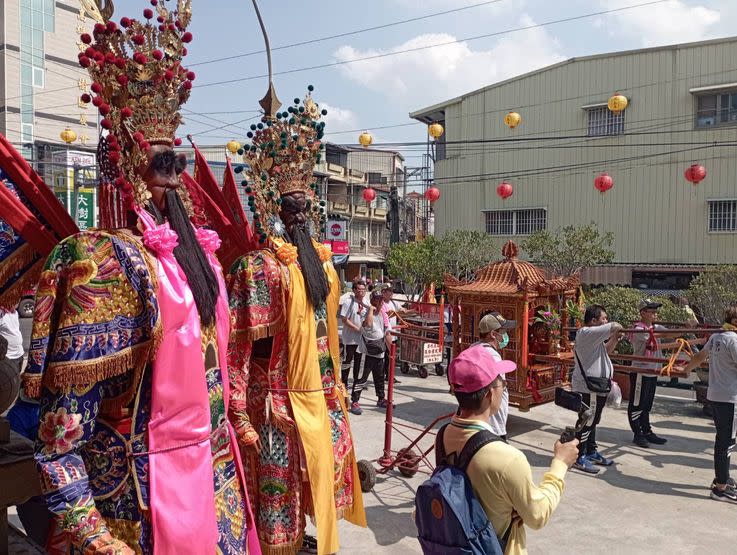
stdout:
[[(466, 441), (482, 429), (491, 431), (486, 422), (454, 416), (445, 430), (445, 452), (460, 453)], [(502, 537), (512, 522), (512, 511), (516, 511), (522, 522), (533, 530), (547, 524), (563, 494), (567, 470), (563, 461), (553, 459), (542, 482), (535, 485), (524, 453), (503, 441), (494, 441), (476, 453), (466, 473), (497, 536)], [(527, 553), (525, 527), (519, 521), (513, 525), (504, 553)]]

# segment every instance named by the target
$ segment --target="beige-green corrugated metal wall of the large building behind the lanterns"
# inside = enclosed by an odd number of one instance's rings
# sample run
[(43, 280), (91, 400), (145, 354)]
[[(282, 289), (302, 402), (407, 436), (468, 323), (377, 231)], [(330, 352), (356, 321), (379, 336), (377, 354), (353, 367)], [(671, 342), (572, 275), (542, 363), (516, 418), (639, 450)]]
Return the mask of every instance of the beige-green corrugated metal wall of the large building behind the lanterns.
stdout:
[[(737, 142), (737, 126), (694, 128), (689, 93), (734, 82), (737, 39), (573, 60), (467, 96), (445, 109), (447, 141), (586, 135), (582, 106), (615, 91), (630, 99), (627, 135), (449, 144), (435, 165), (438, 232), (483, 230), (482, 210), (541, 207), (548, 229), (595, 221), (614, 232), (617, 262), (734, 262), (737, 233), (708, 233), (707, 200), (737, 198), (737, 147), (672, 144)], [(510, 110), (523, 119), (515, 130), (503, 123)], [(696, 187), (683, 177), (694, 162), (708, 171)], [(593, 186), (603, 171), (615, 183), (605, 195)], [(495, 192), (504, 178), (514, 186), (506, 201)]]

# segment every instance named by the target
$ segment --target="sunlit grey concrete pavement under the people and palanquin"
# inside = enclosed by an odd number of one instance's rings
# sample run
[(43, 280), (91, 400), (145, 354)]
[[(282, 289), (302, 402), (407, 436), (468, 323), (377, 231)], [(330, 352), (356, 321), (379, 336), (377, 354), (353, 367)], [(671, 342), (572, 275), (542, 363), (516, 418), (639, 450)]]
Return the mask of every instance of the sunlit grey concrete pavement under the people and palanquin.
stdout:
[[(398, 421), (424, 426), (454, 410), (446, 379), (431, 375), (400, 376)], [(569, 472), (563, 499), (548, 525), (528, 529), (528, 549), (535, 553), (735, 553), (737, 506), (709, 498), (714, 476), (714, 427), (692, 401), (692, 392), (659, 388), (652, 422), (668, 439), (660, 448), (631, 443), (626, 406), (605, 409), (597, 432), (600, 450), (615, 465), (597, 476)], [(364, 413), (351, 416), (359, 458), (381, 453), (384, 414), (373, 408), (373, 387), (364, 392)], [(552, 446), (575, 415), (552, 404), (521, 413), (510, 410), (511, 443), (521, 449), (538, 481), (547, 468)], [(406, 430), (413, 437), (415, 432)], [(407, 445), (397, 433), (395, 447)], [(428, 445), (425, 443), (425, 445)], [(368, 529), (340, 524), (342, 554), (420, 553), (410, 518), (414, 492), (425, 479), (418, 474), (380, 476), (364, 494)]]

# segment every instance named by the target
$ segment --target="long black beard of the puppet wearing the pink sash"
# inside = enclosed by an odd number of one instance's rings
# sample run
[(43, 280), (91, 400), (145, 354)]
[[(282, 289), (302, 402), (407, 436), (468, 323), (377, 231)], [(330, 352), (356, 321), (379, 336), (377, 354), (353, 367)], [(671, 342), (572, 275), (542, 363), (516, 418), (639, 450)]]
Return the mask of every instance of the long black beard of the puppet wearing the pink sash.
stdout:
[[(217, 277), (197, 241), (179, 193), (175, 189), (169, 189), (165, 195), (169, 225), (179, 237), (179, 244), (174, 249), (174, 258), (187, 277), (200, 315), (200, 323), (203, 327), (213, 325), (215, 306), (220, 293)], [(156, 212), (158, 213), (158, 210)]]

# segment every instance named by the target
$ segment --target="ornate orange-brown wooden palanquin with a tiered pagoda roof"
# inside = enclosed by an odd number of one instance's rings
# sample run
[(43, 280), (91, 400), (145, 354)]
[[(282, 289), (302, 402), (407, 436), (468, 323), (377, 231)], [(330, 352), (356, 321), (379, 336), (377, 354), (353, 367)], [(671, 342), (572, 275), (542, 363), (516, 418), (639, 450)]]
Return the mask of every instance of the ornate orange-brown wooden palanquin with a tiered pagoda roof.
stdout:
[[(555, 388), (568, 381), (567, 370), (551, 364), (537, 364), (530, 358), (531, 326), (534, 315), (547, 306), (559, 311), (566, 322), (566, 300), (575, 299), (579, 276), (548, 277), (545, 272), (517, 258), (517, 245), (508, 241), (502, 248), (504, 259), (479, 269), (474, 279), (445, 278), (448, 302), (454, 307), (453, 356), (479, 339), (478, 322), (487, 313), (498, 311), (517, 328), (509, 333), (509, 344), (502, 351), (505, 360), (517, 363), (508, 377), (509, 400), (520, 410), (552, 401)], [(561, 348), (569, 350), (565, 334)]]

